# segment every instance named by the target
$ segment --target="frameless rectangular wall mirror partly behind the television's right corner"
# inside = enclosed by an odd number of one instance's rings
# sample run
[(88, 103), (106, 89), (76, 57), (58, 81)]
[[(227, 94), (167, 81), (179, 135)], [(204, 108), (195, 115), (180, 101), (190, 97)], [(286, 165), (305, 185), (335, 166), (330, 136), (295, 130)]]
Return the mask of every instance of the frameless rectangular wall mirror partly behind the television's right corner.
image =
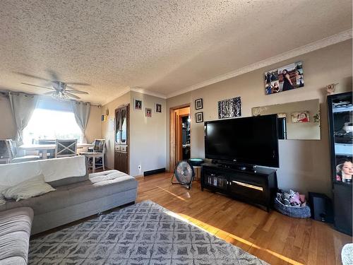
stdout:
[(318, 99), (253, 107), (251, 113), (253, 116), (277, 114), (279, 139), (321, 139)]

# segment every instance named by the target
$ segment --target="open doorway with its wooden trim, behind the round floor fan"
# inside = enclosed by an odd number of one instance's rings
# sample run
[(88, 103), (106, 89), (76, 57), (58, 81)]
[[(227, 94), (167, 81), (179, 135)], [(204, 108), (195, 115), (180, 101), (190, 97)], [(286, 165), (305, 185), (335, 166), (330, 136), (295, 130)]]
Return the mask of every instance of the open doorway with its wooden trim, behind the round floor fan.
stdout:
[(190, 105), (170, 109), (169, 170), (174, 172), (180, 160), (188, 160), (191, 154)]

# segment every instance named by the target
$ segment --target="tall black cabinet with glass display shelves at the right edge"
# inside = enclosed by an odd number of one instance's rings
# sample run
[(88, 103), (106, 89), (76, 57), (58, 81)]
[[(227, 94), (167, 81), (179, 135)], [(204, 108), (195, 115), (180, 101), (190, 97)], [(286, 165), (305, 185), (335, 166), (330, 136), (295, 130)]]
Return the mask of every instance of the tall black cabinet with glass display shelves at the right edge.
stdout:
[(335, 228), (352, 235), (352, 93), (328, 96)]

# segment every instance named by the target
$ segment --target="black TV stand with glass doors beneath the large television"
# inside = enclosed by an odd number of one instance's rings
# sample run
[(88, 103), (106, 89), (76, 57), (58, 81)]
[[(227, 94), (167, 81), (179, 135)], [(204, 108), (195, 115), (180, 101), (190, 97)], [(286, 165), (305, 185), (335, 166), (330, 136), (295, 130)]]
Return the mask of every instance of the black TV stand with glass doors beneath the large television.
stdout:
[(201, 165), (203, 189), (227, 194), (270, 211), (277, 192), (277, 174), (276, 170), (267, 167), (240, 170), (237, 167), (205, 163)]

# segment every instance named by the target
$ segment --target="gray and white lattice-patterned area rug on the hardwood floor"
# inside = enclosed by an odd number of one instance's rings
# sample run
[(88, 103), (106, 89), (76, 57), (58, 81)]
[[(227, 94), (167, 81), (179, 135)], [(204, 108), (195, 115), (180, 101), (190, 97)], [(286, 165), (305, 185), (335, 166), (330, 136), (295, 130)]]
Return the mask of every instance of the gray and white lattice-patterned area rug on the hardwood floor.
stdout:
[(30, 240), (29, 264), (266, 264), (152, 201)]

